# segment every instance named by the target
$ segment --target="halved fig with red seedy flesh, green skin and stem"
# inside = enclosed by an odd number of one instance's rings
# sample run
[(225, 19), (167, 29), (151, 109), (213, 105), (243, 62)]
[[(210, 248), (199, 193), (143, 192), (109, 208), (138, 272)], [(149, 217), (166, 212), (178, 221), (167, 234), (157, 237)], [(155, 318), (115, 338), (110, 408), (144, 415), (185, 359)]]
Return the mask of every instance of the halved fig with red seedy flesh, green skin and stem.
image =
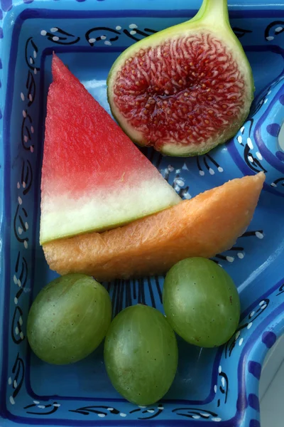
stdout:
[(239, 130), (253, 100), (249, 61), (226, 0), (130, 46), (111, 67), (108, 99), (124, 132), (163, 154), (204, 154)]

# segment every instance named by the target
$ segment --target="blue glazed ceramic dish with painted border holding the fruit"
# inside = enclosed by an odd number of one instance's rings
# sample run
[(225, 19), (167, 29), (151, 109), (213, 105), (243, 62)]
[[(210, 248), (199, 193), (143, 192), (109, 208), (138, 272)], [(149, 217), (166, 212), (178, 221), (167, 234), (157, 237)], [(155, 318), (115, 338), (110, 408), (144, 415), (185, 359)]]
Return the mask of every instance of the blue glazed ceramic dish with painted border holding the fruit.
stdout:
[[(134, 41), (195, 14), (197, 0), (1, 0), (0, 50), (0, 425), (258, 427), (258, 380), (284, 320), (284, 6), (237, 0), (230, 8), (256, 82), (250, 119), (234, 139), (199, 158), (145, 150), (189, 199), (244, 174), (266, 172), (249, 230), (214, 258), (241, 295), (238, 332), (222, 348), (180, 341), (175, 382), (148, 408), (121, 399), (104, 370), (102, 347), (67, 367), (31, 354), (28, 308), (55, 277), (38, 244), (40, 162), (53, 51), (107, 107), (106, 78)], [(107, 285), (114, 315), (137, 302), (162, 310), (163, 278)]]

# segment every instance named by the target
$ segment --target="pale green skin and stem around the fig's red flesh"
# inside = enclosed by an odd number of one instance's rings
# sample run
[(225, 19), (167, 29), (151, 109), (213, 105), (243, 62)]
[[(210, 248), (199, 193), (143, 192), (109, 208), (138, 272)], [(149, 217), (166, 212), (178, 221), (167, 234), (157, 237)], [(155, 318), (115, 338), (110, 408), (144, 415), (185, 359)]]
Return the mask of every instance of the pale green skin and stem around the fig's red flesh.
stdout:
[(147, 38), (142, 39), (141, 41), (134, 43), (123, 53), (121, 53), (119, 58), (114, 61), (114, 64), (109, 71), (107, 78), (107, 99), (109, 101), (111, 113), (116, 122), (118, 122), (121, 128), (124, 130), (126, 135), (129, 135), (133, 142), (139, 146), (143, 147), (147, 146), (148, 144), (147, 142), (131, 135), (133, 134), (131, 128), (128, 127), (126, 120), (123, 120), (123, 118), (119, 116), (119, 112), (116, 111), (116, 106), (114, 105), (113, 87), (116, 80), (116, 74), (124, 65), (126, 59), (135, 56), (141, 48), (158, 46), (169, 38), (179, 38), (185, 36), (188, 31), (198, 32), (200, 30), (207, 30), (216, 33), (216, 35), (218, 35), (219, 38), (224, 41), (224, 43), (229, 46), (234, 51), (234, 53), (236, 53), (235, 60), (237, 63), (239, 63), (241, 70), (243, 70), (244, 74), (246, 75), (246, 106), (244, 107), (244, 111), (240, 117), (238, 117), (238, 120), (233, 122), (231, 127), (228, 127), (227, 131), (224, 132), (224, 135), (219, 139), (213, 140), (206, 147), (198, 149), (198, 147), (185, 147), (185, 144), (176, 144), (172, 142), (165, 144), (163, 147), (160, 147), (159, 151), (162, 154), (173, 157), (192, 157), (206, 154), (211, 149), (217, 147), (219, 144), (224, 144), (224, 142), (231, 139), (231, 137), (234, 137), (236, 132), (238, 132), (239, 128), (244, 124), (246, 118), (248, 117), (251, 102), (253, 101), (253, 93), (255, 90), (253, 73), (251, 70), (251, 65), (249, 64), (249, 60), (246, 58), (246, 53), (244, 53), (244, 49), (241, 46), (239, 39), (231, 29), (229, 23), (227, 0), (203, 0), (200, 10), (192, 19), (190, 19), (190, 21), (180, 23), (162, 31), (158, 31), (158, 33), (155, 33), (151, 36), (148, 36)]

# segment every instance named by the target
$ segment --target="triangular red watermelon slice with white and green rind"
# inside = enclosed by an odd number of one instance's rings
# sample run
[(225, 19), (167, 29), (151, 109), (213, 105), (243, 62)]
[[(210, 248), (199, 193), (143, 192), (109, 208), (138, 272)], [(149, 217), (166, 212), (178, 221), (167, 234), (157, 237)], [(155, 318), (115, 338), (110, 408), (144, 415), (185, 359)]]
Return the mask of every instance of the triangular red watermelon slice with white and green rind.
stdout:
[(115, 228), (177, 204), (178, 194), (55, 55), (52, 69), (40, 243)]

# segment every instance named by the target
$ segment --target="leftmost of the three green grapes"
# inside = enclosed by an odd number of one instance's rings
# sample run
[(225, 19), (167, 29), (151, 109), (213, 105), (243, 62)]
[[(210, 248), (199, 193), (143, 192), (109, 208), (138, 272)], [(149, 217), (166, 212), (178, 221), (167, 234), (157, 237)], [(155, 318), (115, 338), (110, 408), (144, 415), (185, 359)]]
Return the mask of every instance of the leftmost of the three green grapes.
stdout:
[(111, 323), (107, 290), (79, 273), (50, 282), (28, 314), (28, 342), (44, 362), (70, 364), (84, 359), (102, 342)]

